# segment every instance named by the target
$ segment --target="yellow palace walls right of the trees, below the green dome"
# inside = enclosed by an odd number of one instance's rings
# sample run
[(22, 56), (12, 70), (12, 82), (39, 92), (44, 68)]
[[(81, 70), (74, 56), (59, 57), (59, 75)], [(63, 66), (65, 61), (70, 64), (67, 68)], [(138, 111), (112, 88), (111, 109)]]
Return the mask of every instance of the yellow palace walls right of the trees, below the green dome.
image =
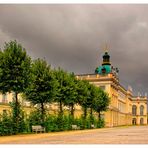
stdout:
[(104, 113), (104, 119), (107, 127), (113, 126), (121, 126), (121, 125), (132, 125), (132, 120), (134, 116), (132, 115), (132, 106), (135, 103), (138, 105), (144, 105), (144, 115), (140, 116), (139, 107), (138, 107), (138, 115), (136, 115), (137, 124), (140, 124), (140, 119), (143, 118), (144, 124), (147, 124), (147, 98), (145, 98), (145, 102), (139, 100), (139, 104), (137, 100), (134, 102), (132, 91), (126, 90), (123, 86), (120, 85), (118, 78), (113, 74), (107, 75), (79, 75), (78, 79), (88, 80), (91, 84), (94, 84), (109, 94), (110, 105), (109, 109)]

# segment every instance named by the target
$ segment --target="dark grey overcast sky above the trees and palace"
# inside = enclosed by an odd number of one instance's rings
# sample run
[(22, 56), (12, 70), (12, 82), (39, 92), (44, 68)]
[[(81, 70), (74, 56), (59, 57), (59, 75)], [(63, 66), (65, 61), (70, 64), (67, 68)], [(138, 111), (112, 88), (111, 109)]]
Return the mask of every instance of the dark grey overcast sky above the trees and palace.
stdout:
[(148, 92), (148, 5), (0, 5), (0, 47), (16, 39), (32, 58), (94, 73), (107, 42), (121, 84)]

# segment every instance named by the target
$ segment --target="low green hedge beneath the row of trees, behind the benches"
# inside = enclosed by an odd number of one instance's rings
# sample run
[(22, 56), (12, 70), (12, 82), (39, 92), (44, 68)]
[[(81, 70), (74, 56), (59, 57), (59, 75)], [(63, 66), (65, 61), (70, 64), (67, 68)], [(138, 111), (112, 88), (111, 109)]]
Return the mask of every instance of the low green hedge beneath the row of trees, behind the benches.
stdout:
[[(32, 111), (28, 117), (23, 122), (19, 122), (19, 130), (15, 128), (12, 114), (4, 114), (0, 117), (0, 135), (12, 135), (17, 133), (30, 133), (32, 132), (32, 125), (42, 125), (40, 120), (41, 114), (39, 110)], [(23, 123), (23, 124), (22, 124)], [(46, 115), (44, 126), (46, 132), (57, 132), (57, 131), (66, 131), (72, 130), (72, 125), (77, 125), (81, 130), (91, 129), (91, 124), (94, 124), (95, 127), (101, 128), (104, 127), (104, 121), (97, 121), (93, 119), (93, 123), (88, 116), (86, 119), (82, 117), (73, 118), (71, 115)], [(22, 126), (22, 128), (20, 128)], [(17, 131), (17, 132), (16, 132)]]

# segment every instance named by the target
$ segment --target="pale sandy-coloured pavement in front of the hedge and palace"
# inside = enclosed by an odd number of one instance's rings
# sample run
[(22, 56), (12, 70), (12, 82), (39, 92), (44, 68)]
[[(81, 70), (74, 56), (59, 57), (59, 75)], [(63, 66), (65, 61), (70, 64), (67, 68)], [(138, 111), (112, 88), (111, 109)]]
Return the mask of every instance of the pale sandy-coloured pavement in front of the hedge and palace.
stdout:
[(148, 144), (148, 126), (4, 136), (0, 144)]

